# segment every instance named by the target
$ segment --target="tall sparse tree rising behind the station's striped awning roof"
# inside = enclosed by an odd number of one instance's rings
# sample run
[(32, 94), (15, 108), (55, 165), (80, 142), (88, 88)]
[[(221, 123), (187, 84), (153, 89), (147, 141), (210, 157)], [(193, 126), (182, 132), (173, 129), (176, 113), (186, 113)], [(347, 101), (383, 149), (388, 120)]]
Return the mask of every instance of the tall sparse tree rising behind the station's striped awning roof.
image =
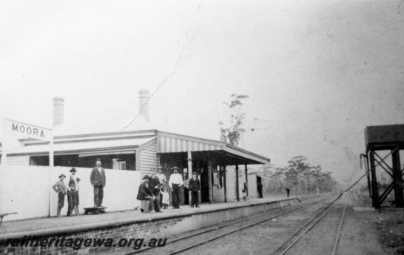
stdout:
[(230, 109), (230, 128), (228, 129), (229, 132), (227, 133), (227, 130), (225, 128), (225, 123), (223, 121), (219, 121), (220, 125), (220, 140), (227, 142), (231, 145), (238, 146), (238, 142), (240, 141), (241, 138), (241, 133), (239, 130), (243, 120), (245, 113), (242, 110), (243, 106), (243, 100), (245, 98), (248, 98), (248, 95), (237, 95), (237, 94), (232, 94), (230, 99), (230, 102), (223, 102), (224, 105), (226, 105), (226, 108)]

